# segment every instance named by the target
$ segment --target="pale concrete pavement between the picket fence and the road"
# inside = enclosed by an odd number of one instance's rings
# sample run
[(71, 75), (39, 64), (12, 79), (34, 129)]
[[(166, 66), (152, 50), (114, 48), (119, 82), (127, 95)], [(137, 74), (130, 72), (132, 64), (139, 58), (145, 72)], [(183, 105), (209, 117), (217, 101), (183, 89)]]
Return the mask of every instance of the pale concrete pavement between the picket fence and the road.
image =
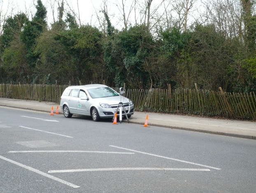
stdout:
[[(57, 103), (51, 102), (0, 98), (0, 107), (7, 106), (28, 110), (37, 110), (42, 112), (49, 112), (49, 114), (51, 113), (52, 106), (54, 106), (55, 113), (57, 105)], [(62, 113), (60, 108), (59, 113)], [(256, 122), (249, 121), (135, 112), (135, 114), (130, 119), (130, 123), (141, 124), (144, 126), (147, 115), (149, 126), (161, 126), (171, 129), (183, 129), (225, 136), (256, 139)], [(124, 122), (126, 122), (126, 119), (124, 119)]]

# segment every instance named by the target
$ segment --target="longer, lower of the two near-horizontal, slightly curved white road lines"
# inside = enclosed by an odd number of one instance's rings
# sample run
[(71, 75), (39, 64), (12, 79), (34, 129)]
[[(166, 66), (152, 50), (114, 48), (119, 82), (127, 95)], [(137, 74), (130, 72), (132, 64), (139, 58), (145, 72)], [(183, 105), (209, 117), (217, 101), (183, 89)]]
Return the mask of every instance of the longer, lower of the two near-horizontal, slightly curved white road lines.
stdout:
[(74, 170), (49, 170), (48, 173), (64, 172), (95, 172), (95, 171), (116, 171), (116, 170), (175, 170), (175, 171), (210, 171), (209, 169), (195, 168), (92, 168), (92, 169), (74, 169)]

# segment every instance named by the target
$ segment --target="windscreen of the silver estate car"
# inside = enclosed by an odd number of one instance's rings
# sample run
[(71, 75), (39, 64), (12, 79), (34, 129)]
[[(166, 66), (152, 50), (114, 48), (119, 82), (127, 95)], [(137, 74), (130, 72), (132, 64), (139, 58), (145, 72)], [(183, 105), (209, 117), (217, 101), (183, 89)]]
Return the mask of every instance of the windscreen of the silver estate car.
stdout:
[(119, 94), (109, 87), (91, 88), (87, 90), (91, 98), (113, 97), (119, 96)]

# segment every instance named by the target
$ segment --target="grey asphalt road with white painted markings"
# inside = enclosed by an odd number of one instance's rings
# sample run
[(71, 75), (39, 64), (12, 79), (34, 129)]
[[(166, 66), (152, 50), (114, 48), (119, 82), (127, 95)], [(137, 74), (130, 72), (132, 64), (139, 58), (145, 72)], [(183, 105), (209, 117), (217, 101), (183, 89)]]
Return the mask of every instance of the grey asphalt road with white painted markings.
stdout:
[(0, 107), (1, 193), (252, 193), (256, 141)]

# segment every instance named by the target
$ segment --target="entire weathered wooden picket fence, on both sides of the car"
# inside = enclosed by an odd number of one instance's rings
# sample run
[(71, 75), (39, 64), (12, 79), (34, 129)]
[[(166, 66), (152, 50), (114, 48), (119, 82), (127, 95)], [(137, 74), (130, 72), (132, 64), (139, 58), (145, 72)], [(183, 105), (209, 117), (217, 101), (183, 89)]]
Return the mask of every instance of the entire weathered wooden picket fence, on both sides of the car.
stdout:
[[(0, 84), (0, 97), (33, 101), (59, 102), (68, 85)], [(113, 88), (119, 92), (119, 88)], [(127, 89), (135, 110), (177, 113), (207, 117), (256, 120), (256, 96), (250, 93), (227, 93), (197, 89)]]

